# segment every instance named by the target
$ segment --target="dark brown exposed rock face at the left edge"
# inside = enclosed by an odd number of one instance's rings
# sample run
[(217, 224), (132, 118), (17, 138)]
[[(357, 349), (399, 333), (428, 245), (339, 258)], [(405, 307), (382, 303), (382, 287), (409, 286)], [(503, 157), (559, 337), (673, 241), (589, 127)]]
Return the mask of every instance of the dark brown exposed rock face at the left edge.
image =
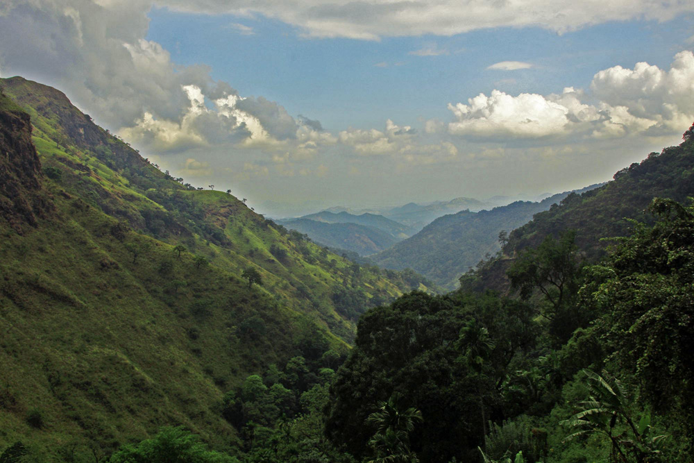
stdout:
[(0, 93), (0, 219), (17, 233), (37, 226), (49, 208), (40, 194), (41, 177), (29, 115)]

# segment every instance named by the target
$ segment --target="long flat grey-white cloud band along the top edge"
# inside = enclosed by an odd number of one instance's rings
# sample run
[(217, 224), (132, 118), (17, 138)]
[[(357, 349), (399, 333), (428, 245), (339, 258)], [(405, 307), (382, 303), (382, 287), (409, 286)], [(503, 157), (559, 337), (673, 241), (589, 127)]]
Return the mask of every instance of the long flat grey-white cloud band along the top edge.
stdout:
[(159, 0), (189, 12), (260, 13), (297, 26), (309, 37), (378, 40), (390, 36), (455, 35), (496, 27), (540, 27), (557, 33), (629, 19), (668, 21), (694, 11), (691, 1), (524, 0), (502, 8), (488, 0)]

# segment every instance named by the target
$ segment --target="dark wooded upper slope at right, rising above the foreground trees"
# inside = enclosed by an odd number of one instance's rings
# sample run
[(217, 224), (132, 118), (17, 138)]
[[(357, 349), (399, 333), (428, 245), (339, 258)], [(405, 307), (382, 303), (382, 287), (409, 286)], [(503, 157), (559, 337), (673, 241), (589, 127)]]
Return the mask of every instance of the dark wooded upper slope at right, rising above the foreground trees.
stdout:
[(682, 144), (650, 153), (641, 163), (621, 169), (600, 188), (570, 194), (557, 206), (536, 214), (532, 221), (509, 234), (509, 241), (496, 258), (480, 264), (466, 285), (473, 288), (506, 289), (506, 269), (514, 256), (538, 246), (545, 237), (575, 230), (575, 242), (584, 258), (601, 258), (609, 240), (627, 235), (630, 219), (652, 221), (647, 212), (654, 197), (686, 203), (694, 195), (694, 126), (684, 133)]

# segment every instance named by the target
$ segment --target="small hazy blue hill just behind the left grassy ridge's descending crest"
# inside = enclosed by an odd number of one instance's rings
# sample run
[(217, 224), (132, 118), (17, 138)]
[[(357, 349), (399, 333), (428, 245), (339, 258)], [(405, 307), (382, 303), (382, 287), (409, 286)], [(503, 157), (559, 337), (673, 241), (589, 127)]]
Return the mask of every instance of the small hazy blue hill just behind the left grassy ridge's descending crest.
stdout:
[(293, 219), (280, 223), (291, 230), (305, 233), (317, 243), (359, 255), (378, 253), (398, 242), (390, 233), (359, 224), (329, 224), (310, 219)]

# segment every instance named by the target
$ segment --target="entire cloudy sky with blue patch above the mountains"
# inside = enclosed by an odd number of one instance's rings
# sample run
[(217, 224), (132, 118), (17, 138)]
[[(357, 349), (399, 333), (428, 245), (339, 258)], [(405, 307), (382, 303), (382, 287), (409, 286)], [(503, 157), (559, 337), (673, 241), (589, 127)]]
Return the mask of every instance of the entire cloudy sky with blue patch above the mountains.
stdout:
[(0, 76), (273, 215), (570, 190), (694, 122), (691, 0), (0, 0), (0, 35)]

